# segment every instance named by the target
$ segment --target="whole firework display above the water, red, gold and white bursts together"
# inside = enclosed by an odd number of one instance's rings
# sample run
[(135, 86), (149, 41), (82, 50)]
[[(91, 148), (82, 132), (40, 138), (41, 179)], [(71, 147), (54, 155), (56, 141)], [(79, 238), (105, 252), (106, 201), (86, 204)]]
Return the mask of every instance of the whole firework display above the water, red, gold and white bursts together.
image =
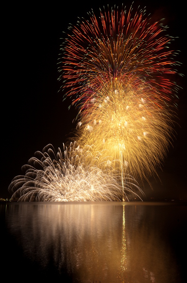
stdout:
[[(70, 27), (59, 80), (78, 108), (73, 143), (32, 157), (9, 191), (19, 201), (117, 201), (161, 166), (175, 136), (178, 86), (162, 21), (145, 10), (100, 11)], [(51, 157), (53, 156), (53, 157)], [(140, 197), (139, 197), (140, 198)], [(140, 198), (141, 199), (141, 198)]]

